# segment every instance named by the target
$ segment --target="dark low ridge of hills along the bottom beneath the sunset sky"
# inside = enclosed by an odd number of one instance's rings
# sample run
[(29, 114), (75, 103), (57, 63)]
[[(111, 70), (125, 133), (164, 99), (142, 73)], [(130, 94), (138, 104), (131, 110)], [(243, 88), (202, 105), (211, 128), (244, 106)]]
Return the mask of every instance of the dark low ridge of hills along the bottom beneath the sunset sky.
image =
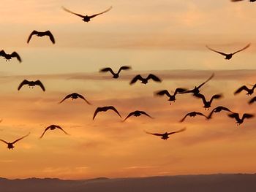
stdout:
[(256, 174), (181, 175), (96, 180), (26, 179), (0, 180), (0, 191), (11, 192), (251, 192), (256, 188)]

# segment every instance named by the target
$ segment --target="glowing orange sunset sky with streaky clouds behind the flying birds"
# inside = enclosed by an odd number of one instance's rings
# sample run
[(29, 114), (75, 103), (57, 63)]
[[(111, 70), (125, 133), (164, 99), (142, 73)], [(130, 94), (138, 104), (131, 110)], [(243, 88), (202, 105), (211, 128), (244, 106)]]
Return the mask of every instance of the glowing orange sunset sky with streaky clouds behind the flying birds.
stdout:
[[(61, 9), (93, 15), (113, 6), (89, 23)], [(241, 85), (255, 84), (256, 4), (230, 0), (1, 0), (0, 49), (16, 51), (17, 59), (0, 58), (0, 139), (26, 139), (8, 150), (0, 143), (0, 177), (143, 177), (152, 175), (255, 173), (256, 118), (236, 126), (226, 112), (178, 121), (187, 112), (206, 115), (200, 99), (178, 95), (170, 105), (155, 91), (177, 87), (194, 88), (214, 72), (201, 93), (210, 99), (224, 98), (234, 112), (255, 113), (252, 96), (233, 92)], [(56, 39), (32, 37), (31, 31), (50, 30)], [(206, 45), (233, 53), (248, 43), (251, 47), (229, 61)], [(132, 66), (117, 80), (99, 69)], [(156, 74), (163, 81), (129, 85), (136, 74)], [(24, 86), (24, 79), (41, 80), (46, 91)], [(69, 93), (71, 99), (58, 104)], [(131, 117), (125, 123), (113, 112), (92, 116), (97, 107), (113, 105), (125, 118), (145, 110), (154, 119)], [(211, 109), (213, 109), (211, 107)], [(60, 130), (48, 131), (56, 124)], [(187, 128), (164, 141), (145, 131), (164, 133)]]

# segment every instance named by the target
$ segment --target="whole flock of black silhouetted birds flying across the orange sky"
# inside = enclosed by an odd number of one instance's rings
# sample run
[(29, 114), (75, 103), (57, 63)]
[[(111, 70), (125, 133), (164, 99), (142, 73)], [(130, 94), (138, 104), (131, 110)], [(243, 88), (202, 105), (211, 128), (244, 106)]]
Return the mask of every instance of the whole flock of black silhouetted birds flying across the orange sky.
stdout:
[[(231, 0), (231, 1), (242, 1), (242, 0)], [(251, 2), (254, 2), (256, 0), (250, 0)], [(105, 11), (103, 12), (99, 12), (97, 14), (94, 14), (94, 15), (80, 15), (78, 13), (75, 13), (75, 12), (72, 12), (70, 11), (69, 9), (65, 8), (65, 7), (62, 7), (62, 9), (64, 9), (64, 11), (66, 12), (69, 12), (69, 13), (72, 13), (73, 15), (77, 15), (78, 17), (80, 18), (83, 18), (83, 21), (84, 22), (89, 22), (91, 20), (91, 18), (94, 18), (96, 17), (97, 15), (102, 15), (103, 13), (105, 12), (108, 12), (110, 11), (110, 9), (112, 9), (112, 7), (106, 9)], [(49, 37), (50, 41), (55, 44), (55, 39), (53, 37), (53, 34), (50, 32), (50, 31), (32, 31), (31, 34), (29, 35), (29, 38), (27, 40), (27, 43), (29, 43), (31, 41), (31, 38), (36, 35), (37, 37), (44, 37), (44, 36), (47, 36)], [(243, 47), (241, 50), (237, 50), (236, 52), (233, 52), (233, 53), (222, 53), (218, 50), (214, 50), (212, 49), (211, 47), (208, 47), (206, 45), (206, 47), (215, 52), (215, 53), (219, 53), (221, 55), (224, 55), (225, 56), (225, 59), (227, 60), (230, 60), (233, 55), (235, 55), (236, 53), (239, 53), (243, 50), (245, 50), (246, 48), (248, 48), (250, 46), (250, 44), (246, 45), (245, 47)], [(6, 61), (10, 61), (12, 58), (17, 58), (18, 61), (21, 63), (22, 60), (20, 58), (20, 55), (18, 55), (18, 53), (16, 53), (15, 51), (13, 53), (5, 53), (4, 50), (1, 50), (0, 51), (0, 56), (1, 57), (4, 57), (6, 59)], [(119, 69), (118, 69), (118, 72), (114, 72), (113, 69), (111, 69), (110, 67), (106, 67), (104, 69), (100, 69), (99, 72), (110, 72), (110, 74), (113, 75), (113, 79), (118, 79), (119, 75), (120, 75), (120, 72), (122, 70), (126, 71), (126, 70), (129, 70), (129, 69), (132, 69), (130, 66), (121, 66)], [(187, 89), (187, 88), (176, 88), (176, 90), (174, 91), (173, 95), (170, 94), (169, 91), (167, 90), (160, 90), (160, 91), (156, 91), (154, 93), (155, 96), (167, 96), (169, 103), (171, 104), (171, 101), (175, 102), (176, 101), (176, 96), (178, 94), (187, 94), (187, 93), (192, 93), (192, 96), (194, 96), (195, 98), (198, 98), (198, 99), (201, 99), (202, 102), (203, 102), (203, 107), (205, 108), (205, 110), (209, 110), (211, 108), (211, 104), (212, 102), (215, 100), (215, 99), (221, 99), (222, 98), (222, 94), (214, 94), (214, 96), (211, 96), (211, 99), (207, 100), (206, 99), (206, 96), (204, 96), (202, 93), (200, 93), (200, 88), (203, 87), (203, 85), (206, 84), (206, 82), (208, 82), (209, 80), (211, 80), (212, 78), (214, 77), (214, 74), (211, 75), (211, 77), (209, 77), (205, 82), (201, 83), (200, 85), (196, 85), (195, 88), (192, 88), (192, 89)], [(153, 80), (154, 82), (162, 82), (162, 80), (157, 77), (156, 75), (154, 74), (148, 74), (147, 77), (142, 77), (140, 74), (136, 75), (134, 78), (132, 78), (132, 80), (129, 82), (130, 85), (133, 85), (135, 84), (135, 82), (138, 82), (140, 81), (142, 84), (147, 84), (148, 83), (148, 80)], [(23, 80), (23, 82), (20, 83), (20, 85), (18, 86), (18, 91), (20, 91), (20, 88), (23, 87), (23, 85), (28, 85), (29, 87), (32, 87), (34, 88), (34, 86), (39, 86), (40, 88), (42, 88), (42, 91), (45, 91), (45, 86), (42, 84), (42, 82), (40, 80), (36, 80), (36, 81), (29, 81), (29, 80)], [(252, 95), (254, 93), (254, 90), (256, 88), (256, 84), (255, 85), (252, 85), (252, 88), (248, 88), (246, 85), (243, 85), (241, 86), (241, 88), (238, 88), (234, 94), (238, 94), (238, 93), (241, 93), (241, 91), (246, 91), (246, 94), (247, 95)], [(89, 101), (87, 101), (87, 99), (79, 94), (79, 93), (70, 93), (68, 94), (67, 96), (64, 97), (64, 99), (62, 99), (59, 104), (61, 104), (62, 102), (64, 102), (66, 99), (83, 99), (84, 101), (86, 101), (87, 104), (91, 104)], [(249, 104), (252, 104), (256, 101), (256, 96), (253, 97), (252, 99), (249, 100)], [(94, 115), (93, 115), (93, 120), (96, 118), (96, 116), (98, 115), (99, 112), (107, 112), (108, 110), (112, 110), (113, 112), (116, 112), (116, 114), (120, 117), (120, 113), (118, 112), (118, 110), (116, 110), (115, 107), (113, 106), (105, 106), (105, 107), (97, 107), (97, 109), (95, 110), (94, 112)], [(213, 116), (214, 113), (219, 113), (219, 112), (222, 112), (222, 111), (225, 111), (227, 112), (227, 116), (229, 118), (234, 118), (236, 120), (236, 123), (237, 125), (240, 125), (241, 123), (244, 122), (244, 120), (247, 118), (253, 118), (254, 115), (253, 114), (249, 114), (249, 113), (244, 113), (243, 115), (241, 114), (238, 114), (237, 112), (233, 112), (232, 110), (228, 109), (227, 107), (223, 107), (223, 106), (218, 106), (218, 107), (215, 107), (214, 110), (211, 110), (211, 112), (209, 113), (209, 115), (204, 115), (202, 112), (188, 112), (186, 115), (184, 115), (184, 118), (182, 118), (180, 120), (180, 122), (184, 122), (184, 120), (187, 118), (187, 117), (195, 117), (197, 115), (199, 116), (203, 116), (204, 118), (206, 118), (206, 120), (210, 120)], [(153, 118), (151, 117), (151, 115), (148, 115), (147, 112), (145, 111), (140, 111), (140, 110), (136, 110), (134, 112), (130, 112), (126, 118), (124, 118), (124, 120), (122, 120), (123, 122), (125, 120), (127, 120), (127, 118), (130, 118), (132, 116), (135, 116), (135, 117), (139, 117), (140, 115), (146, 115), (148, 118)], [(58, 126), (58, 125), (50, 125), (48, 126), (47, 128), (45, 128), (45, 130), (43, 131), (42, 135), (39, 137), (40, 139), (45, 135), (45, 132), (48, 131), (48, 130), (54, 130), (54, 129), (60, 129), (61, 131), (64, 132), (64, 134), (67, 134), (68, 133), (66, 131), (64, 131), (63, 128), (61, 128), (61, 126)], [(180, 130), (178, 131), (173, 131), (173, 132), (165, 132), (165, 133), (151, 133), (151, 132), (148, 132), (146, 131), (147, 134), (152, 134), (154, 136), (158, 136), (158, 137), (161, 137), (161, 139), (168, 139), (169, 138), (169, 135), (170, 134), (176, 134), (176, 133), (180, 133), (182, 131), (185, 131), (186, 128), (181, 128)], [(30, 134), (30, 133), (29, 133)], [(25, 136), (23, 137), (20, 137), (19, 139), (16, 139), (14, 142), (7, 142), (5, 141), (4, 139), (0, 139), (1, 142), (4, 142), (7, 144), (7, 148), (8, 149), (13, 149), (14, 148), (14, 144), (18, 141), (20, 141), (21, 139), (24, 139), (25, 137), (28, 137), (29, 134), (26, 134)]]

